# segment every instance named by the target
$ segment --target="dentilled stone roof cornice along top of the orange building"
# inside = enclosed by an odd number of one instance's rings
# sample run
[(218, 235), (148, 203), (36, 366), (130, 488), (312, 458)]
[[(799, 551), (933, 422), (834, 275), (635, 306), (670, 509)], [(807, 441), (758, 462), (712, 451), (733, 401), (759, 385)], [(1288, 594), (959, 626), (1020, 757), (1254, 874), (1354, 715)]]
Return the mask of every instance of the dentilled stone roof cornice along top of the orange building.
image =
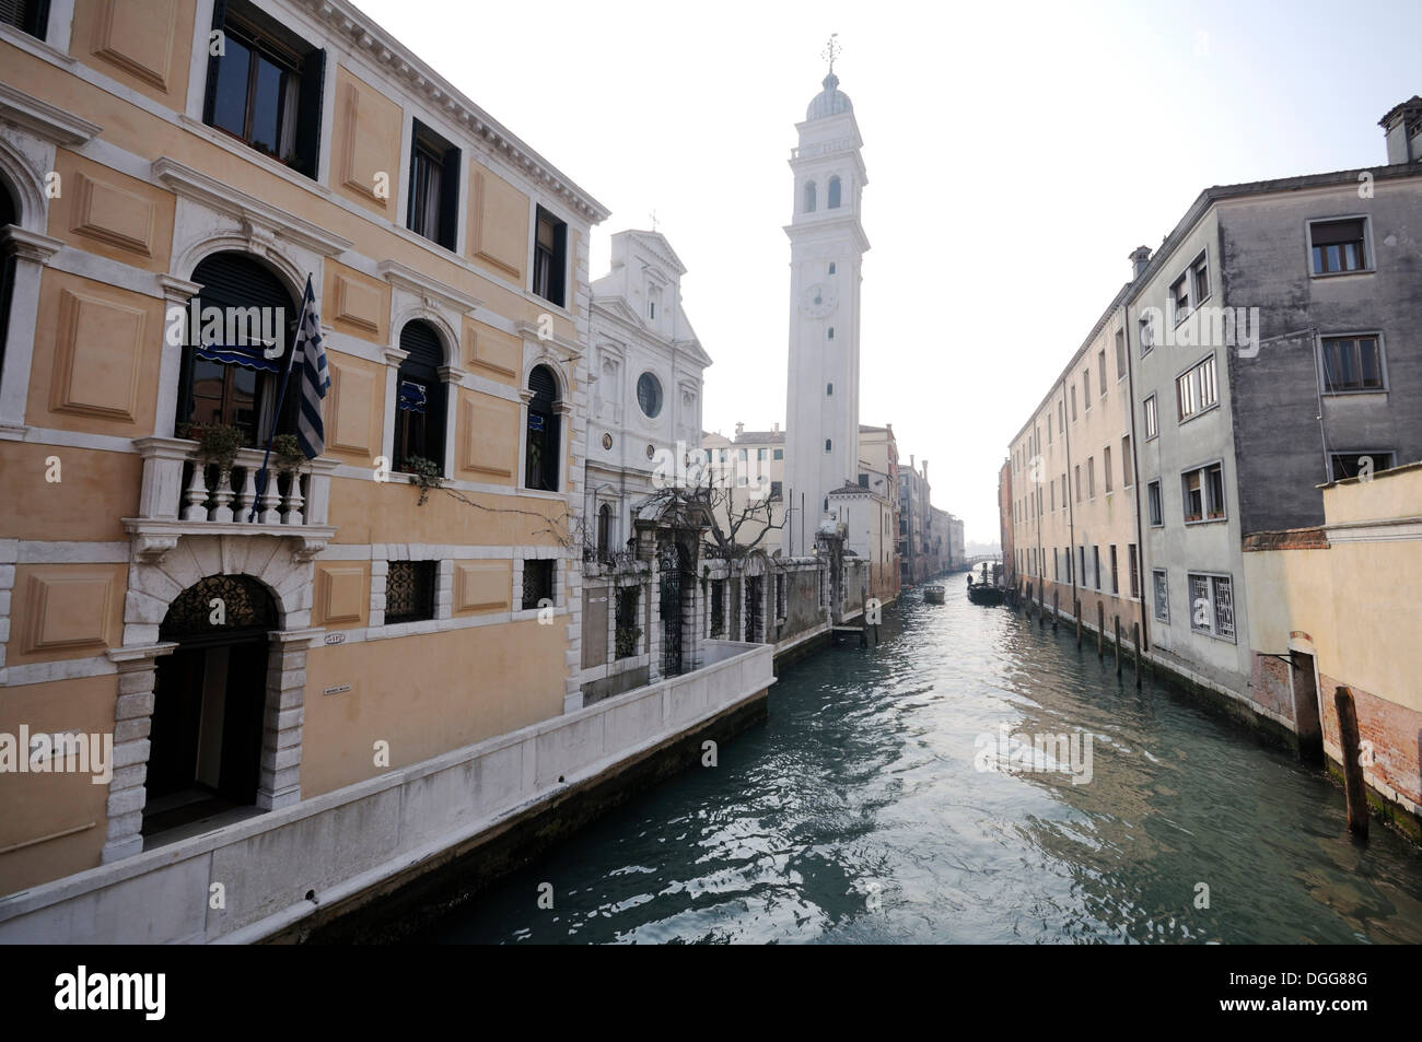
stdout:
[(415, 98), (422, 100), (431, 111), (458, 124), (471, 138), (482, 141), (495, 155), (562, 199), (582, 217), (596, 225), (611, 213), (360, 10), (344, 0), (300, 1), (347, 47), (361, 53)]

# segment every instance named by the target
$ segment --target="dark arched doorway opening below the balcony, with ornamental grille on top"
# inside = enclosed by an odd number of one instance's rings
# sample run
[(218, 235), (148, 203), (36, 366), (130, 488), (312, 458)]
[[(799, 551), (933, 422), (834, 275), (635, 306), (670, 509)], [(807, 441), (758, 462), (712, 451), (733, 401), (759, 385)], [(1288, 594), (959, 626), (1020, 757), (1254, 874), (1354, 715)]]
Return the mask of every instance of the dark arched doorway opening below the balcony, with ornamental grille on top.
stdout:
[(262, 759), (267, 634), (276, 604), (250, 576), (208, 576), (162, 621), (144, 836), (253, 806)]

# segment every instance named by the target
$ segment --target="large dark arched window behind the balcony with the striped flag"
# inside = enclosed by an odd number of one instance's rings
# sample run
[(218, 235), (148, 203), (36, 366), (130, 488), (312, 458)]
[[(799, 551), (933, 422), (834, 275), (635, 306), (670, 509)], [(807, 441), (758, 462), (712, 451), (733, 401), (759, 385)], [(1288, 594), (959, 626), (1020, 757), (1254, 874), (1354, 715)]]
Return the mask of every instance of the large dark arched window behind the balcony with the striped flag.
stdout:
[[(222, 424), (242, 431), (243, 444), (264, 444), (299, 317), (286, 284), (242, 253), (215, 253), (192, 273), (202, 286), (192, 304), (179, 375), (176, 426)], [(269, 347), (282, 353), (267, 357)], [(279, 434), (296, 431), (300, 390), (287, 387)]]

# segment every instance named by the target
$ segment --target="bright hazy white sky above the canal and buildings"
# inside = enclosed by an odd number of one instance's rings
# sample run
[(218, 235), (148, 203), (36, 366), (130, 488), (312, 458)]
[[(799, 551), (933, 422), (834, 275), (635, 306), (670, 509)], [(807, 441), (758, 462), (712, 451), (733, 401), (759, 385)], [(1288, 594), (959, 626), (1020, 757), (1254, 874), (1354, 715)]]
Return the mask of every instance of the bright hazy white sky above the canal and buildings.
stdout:
[(865, 141), (860, 422), (995, 543), (1007, 442), (1210, 185), (1381, 165), (1422, 3), (523, 3), (361, 10), (667, 236), (714, 360), (702, 425), (785, 422), (789, 149), (830, 33)]

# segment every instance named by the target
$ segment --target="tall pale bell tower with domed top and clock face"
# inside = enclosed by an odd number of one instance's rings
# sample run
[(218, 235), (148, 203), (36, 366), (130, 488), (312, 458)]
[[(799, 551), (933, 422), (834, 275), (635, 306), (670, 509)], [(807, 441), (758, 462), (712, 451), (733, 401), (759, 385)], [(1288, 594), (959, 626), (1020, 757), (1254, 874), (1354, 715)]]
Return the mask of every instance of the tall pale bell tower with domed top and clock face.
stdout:
[[(829, 74), (798, 124), (791, 149), (789, 374), (785, 407), (782, 546), (808, 553), (825, 516), (825, 498), (859, 478), (859, 283), (869, 249), (859, 223), (863, 141), (849, 95), (835, 75), (838, 44), (829, 40)], [(803, 513), (801, 496), (803, 495)]]

